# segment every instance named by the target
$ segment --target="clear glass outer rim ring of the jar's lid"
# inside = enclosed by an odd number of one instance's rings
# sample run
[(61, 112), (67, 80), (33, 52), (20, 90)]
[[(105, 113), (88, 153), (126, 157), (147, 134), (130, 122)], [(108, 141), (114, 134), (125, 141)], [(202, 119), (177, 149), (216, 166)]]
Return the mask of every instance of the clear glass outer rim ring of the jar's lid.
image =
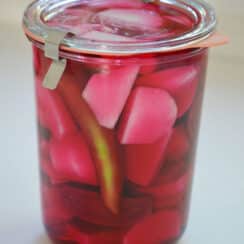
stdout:
[[(89, 0), (36, 0), (31, 3), (23, 17), (23, 28), (27, 37), (39, 43), (43, 48), (48, 27), (42, 21), (44, 11), (57, 11), (77, 4), (86, 3)], [(90, 0), (91, 1), (91, 0)], [(96, 1), (96, 0), (95, 0)], [(91, 41), (76, 36), (67, 35), (60, 49), (63, 52), (95, 54), (106, 56), (129, 56), (136, 54), (149, 54), (158, 52), (173, 52), (186, 49), (195, 43), (208, 38), (216, 28), (217, 20), (214, 9), (203, 0), (158, 0), (157, 3), (176, 6), (194, 17), (197, 25), (191, 31), (170, 39), (162, 39), (151, 42), (111, 42)]]

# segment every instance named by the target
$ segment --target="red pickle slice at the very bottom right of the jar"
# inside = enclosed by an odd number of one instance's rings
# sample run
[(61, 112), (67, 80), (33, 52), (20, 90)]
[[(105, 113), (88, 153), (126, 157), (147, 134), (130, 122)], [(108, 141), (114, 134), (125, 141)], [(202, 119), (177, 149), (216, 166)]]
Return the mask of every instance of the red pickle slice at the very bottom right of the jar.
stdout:
[(138, 222), (127, 233), (124, 244), (153, 244), (177, 238), (181, 232), (176, 211), (161, 211)]

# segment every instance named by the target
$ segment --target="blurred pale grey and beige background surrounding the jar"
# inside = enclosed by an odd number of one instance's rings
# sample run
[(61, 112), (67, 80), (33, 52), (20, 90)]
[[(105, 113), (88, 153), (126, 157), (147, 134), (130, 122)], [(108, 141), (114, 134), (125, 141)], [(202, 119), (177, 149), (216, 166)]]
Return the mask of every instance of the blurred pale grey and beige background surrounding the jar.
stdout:
[[(8, 17), (7, 2), (0, 12), (0, 243), (48, 244), (39, 206), (31, 49), (16, 24), (19, 12)], [(23, 8), (28, 1), (20, 2)], [(190, 223), (180, 244), (244, 243), (244, 2), (234, 2), (231, 14), (226, 0), (214, 1), (233, 38), (211, 53)]]

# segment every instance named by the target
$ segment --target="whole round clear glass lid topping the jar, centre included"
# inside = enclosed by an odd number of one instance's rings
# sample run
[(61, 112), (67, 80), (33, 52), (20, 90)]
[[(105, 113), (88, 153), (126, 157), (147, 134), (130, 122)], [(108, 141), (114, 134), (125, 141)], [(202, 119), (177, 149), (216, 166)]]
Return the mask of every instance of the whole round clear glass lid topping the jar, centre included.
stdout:
[(213, 33), (216, 18), (200, 0), (36, 0), (26, 9), (23, 25), (39, 44), (51, 30), (68, 32), (63, 51), (133, 55), (199, 42)]

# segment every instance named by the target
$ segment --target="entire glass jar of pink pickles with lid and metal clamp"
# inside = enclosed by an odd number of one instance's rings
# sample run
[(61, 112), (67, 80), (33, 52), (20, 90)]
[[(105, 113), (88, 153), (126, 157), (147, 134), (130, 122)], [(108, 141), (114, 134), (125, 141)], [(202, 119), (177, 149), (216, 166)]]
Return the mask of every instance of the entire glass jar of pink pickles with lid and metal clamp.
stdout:
[(177, 241), (187, 225), (208, 55), (188, 47), (214, 31), (213, 10), (187, 0), (37, 0), (23, 23), (33, 43), (49, 237)]

